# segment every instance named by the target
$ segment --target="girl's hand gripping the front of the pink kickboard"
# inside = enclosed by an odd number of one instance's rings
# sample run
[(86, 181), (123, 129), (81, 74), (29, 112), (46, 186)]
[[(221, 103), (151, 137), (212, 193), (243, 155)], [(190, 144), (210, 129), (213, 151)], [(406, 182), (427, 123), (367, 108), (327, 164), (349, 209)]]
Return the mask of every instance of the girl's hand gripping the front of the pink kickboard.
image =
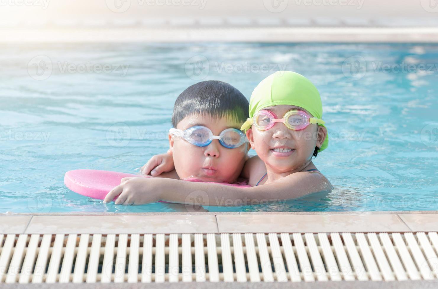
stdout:
[(115, 205), (140, 205), (158, 202), (159, 193), (153, 190), (152, 183), (154, 178), (130, 177), (123, 178), (120, 185), (109, 191), (103, 203), (111, 202), (116, 196)]

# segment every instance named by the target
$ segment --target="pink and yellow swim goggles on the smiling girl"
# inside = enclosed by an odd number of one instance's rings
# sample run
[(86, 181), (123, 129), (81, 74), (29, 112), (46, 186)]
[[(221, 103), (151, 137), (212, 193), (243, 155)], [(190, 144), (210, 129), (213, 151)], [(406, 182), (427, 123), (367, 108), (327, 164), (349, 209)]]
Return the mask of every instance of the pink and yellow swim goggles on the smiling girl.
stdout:
[(272, 111), (260, 110), (254, 114), (254, 117), (248, 118), (241, 129), (248, 129), (251, 125), (254, 125), (259, 131), (266, 131), (273, 127), (276, 122), (282, 122), (287, 128), (294, 131), (302, 130), (309, 124), (325, 124), (324, 120), (310, 117), (302, 110), (290, 110), (284, 114), (283, 118), (277, 118)]

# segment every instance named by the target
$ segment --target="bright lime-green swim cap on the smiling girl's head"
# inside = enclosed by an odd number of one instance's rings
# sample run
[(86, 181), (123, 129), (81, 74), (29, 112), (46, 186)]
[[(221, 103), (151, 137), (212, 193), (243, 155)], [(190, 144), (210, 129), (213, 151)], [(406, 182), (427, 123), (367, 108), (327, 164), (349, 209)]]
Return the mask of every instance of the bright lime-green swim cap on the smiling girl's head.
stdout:
[[(318, 89), (309, 79), (297, 72), (277, 71), (263, 79), (251, 94), (249, 119), (265, 107), (281, 104), (302, 107), (313, 117), (322, 119), (322, 103)], [(245, 127), (245, 124), (242, 129), (246, 132), (249, 127)], [(319, 125), (325, 127), (325, 124)], [(327, 135), (319, 151), (323, 151), (328, 145)]]

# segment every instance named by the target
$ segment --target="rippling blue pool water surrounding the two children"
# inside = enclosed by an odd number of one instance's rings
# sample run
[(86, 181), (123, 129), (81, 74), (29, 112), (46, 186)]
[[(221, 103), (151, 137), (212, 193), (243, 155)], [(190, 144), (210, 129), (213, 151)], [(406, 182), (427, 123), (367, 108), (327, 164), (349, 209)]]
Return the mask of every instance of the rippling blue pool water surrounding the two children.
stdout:
[[(0, 213), (438, 210), (438, 45), (0, 48)], [(68, 170), (138, 172), (166, 151), (173, 103), (187, 86), (217, 79), (249, 98), (276, 70), (299, 72), (321, 92), (330, 145), (314, 163), (332, 191), (260, 206), (188, 208), (103, 204), (64, 186)]]

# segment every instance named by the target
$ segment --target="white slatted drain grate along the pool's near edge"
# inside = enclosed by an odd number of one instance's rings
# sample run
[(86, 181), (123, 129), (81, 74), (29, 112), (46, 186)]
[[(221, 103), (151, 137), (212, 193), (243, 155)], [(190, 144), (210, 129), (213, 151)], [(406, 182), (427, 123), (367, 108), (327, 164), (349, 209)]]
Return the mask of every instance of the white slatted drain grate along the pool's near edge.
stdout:
[(0, 234), (0, 282), (438, 279), (438, 234)]

